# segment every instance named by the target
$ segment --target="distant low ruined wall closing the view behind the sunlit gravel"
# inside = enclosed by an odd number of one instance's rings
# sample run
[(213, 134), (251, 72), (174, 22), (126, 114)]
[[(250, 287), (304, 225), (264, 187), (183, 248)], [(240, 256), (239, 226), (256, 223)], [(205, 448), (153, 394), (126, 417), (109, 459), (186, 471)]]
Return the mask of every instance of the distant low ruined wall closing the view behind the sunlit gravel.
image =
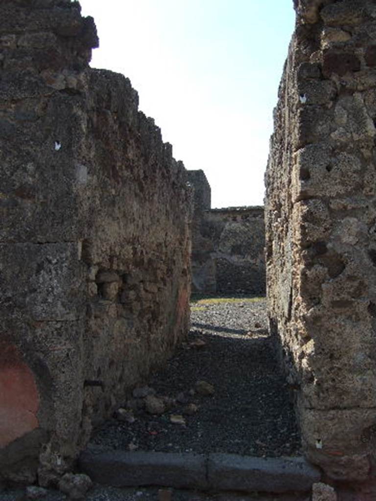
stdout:
[(265, 294), (263, 207), (211, 209), (203, 170), (187, 171), (195, 189), (192, 289), (205, 294)]

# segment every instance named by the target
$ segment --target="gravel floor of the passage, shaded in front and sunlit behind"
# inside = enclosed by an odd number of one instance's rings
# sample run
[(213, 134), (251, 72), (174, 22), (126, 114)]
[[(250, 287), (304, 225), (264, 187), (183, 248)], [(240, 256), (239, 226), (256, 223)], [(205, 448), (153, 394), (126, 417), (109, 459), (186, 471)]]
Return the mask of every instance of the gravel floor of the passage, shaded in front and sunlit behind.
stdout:
[[(144, 409), (133, 423), (107, 421), (92, 445), (128, 450), (229, 452), (275, 457), (299, 453), (300, 438), (289, 391), (267, 333), (264, 301), (194, 304), (187, 343), (153, 374), (156, 396), (180, 400), (162, 415)], [(197, 339), (206, 344), (195, 347)], [(198, 380), (212, 384), (212, 396), (192, 395)], [(170, 422), (187, 404), (198, 411), (184, 424)]]

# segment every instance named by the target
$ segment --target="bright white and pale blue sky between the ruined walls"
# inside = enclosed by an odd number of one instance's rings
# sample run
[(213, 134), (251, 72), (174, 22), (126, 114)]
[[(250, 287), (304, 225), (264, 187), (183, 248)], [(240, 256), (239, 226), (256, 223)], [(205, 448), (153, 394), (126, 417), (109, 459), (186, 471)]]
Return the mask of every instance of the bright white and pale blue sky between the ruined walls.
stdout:
[(293, 31), (291, 0), (80, 0), (173, 156), (203, 169), (212, 207), (263, 203), (272, 112)]

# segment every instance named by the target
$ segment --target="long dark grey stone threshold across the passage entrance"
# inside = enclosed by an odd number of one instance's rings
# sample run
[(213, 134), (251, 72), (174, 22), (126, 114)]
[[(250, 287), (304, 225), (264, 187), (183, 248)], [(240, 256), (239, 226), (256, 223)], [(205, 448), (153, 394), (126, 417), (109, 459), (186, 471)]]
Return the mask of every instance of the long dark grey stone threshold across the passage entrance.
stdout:
[(155, 485), (245, 492), (309, 492), (321, 473), (303, 457), (86, 449), (80, 469), (114, 487)]

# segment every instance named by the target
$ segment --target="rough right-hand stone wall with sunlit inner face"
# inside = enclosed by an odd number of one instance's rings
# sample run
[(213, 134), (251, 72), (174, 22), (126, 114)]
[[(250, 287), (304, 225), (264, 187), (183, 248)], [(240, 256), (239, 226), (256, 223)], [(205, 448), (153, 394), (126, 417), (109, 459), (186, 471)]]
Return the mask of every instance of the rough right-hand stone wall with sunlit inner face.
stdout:
[(375, 474), (376, 5), (295, 2), (266, 175), (267, 296), (308, 457)]

